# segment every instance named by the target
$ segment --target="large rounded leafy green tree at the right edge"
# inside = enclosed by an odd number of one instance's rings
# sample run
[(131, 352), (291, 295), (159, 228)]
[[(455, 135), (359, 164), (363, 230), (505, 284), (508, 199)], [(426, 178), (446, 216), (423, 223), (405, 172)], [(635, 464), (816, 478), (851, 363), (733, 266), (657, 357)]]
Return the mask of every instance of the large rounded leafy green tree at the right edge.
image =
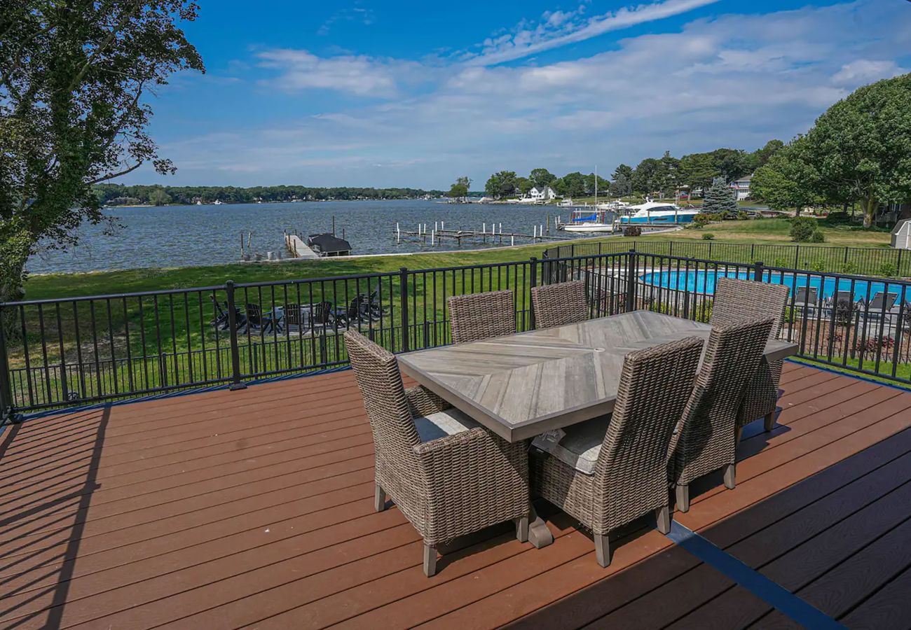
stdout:
[(860, 87), (816, 119), (806, 158), (826, 200), (860, 200), (864, 227), (879, 205), (911, 198), (911, 74)]

